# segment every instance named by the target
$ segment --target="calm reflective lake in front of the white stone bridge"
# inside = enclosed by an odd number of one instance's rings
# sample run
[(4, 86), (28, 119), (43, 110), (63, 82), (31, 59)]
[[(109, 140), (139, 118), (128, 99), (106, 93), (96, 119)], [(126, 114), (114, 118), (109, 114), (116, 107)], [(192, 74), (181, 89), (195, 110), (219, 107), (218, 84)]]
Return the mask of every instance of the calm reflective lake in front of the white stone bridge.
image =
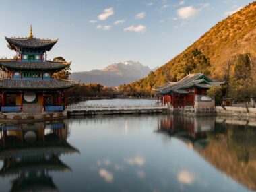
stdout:
[(254, 125), (181, 115), (2, 124), (0, 191), (255, 190)]

